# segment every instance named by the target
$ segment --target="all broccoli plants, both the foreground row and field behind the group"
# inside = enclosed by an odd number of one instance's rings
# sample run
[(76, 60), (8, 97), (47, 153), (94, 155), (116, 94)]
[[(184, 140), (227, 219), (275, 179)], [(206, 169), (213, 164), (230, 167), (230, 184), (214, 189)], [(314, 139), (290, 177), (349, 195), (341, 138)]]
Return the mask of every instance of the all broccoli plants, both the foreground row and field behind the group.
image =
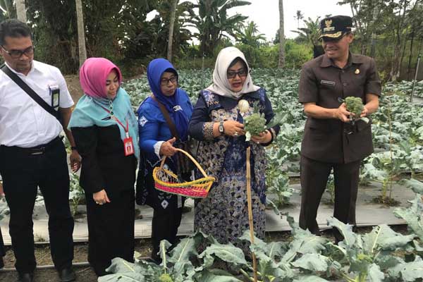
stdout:
[[(180, 71), (180, 86), (195, 102), (197, 92), (209, 85), (211, 78), (210, 70)], [(289, 176), (298, 173), (306, 119), (298, 103), (299, 73), (256, 69), (252, 78), (256, 85), (266, 88), (281, 118), (281, 133), (266, 149), (267, 188), (278, 194), (276, 204), (281, 207), (289, 202)], [(149, 94), (145, 78), (128, 81), (124, 87), (134, 106)], [(382, 201), (390, 197), (393, 183), (410, 187), (417, 194), (410, 207), (394, 211), (407, 222), (409, 234), (396, 233), (386, 224), (357, 234), (352, 226), (331, 217), (329, 226), (345, 238), (335, 245), (298, 228), (288, 216), (293, 236), (290, 243), (265, 243), (255, 238), (250, 247), (258, 259), (258, 281), (422, 281), (423, 204), (419, 194), (423, 194), (423, 183), (414, 178), (423, 172), (423, 109), (418, 104), (423, 99), (417, 98), (415, 104), (408, 102), (411, 87), (410, 82), (384, 85), (379, 111), (371, 116), (375, 152), (364, 159), (360, 171), (361, 183), (382, 183)], [(423, 97), (422, 83), (416, 90), (415, 97)], [(243, 240), (250, 240), (248, 233)], [(252, 262), (231, 244), (221, 245), (211, 236), (196, 233), (166, 255), (168, 246), (162, 241), (161, 265), (144, 260), (130, 264), (117, 258), (110, 269), (114, 274), (99, 281), (254, 281)]]

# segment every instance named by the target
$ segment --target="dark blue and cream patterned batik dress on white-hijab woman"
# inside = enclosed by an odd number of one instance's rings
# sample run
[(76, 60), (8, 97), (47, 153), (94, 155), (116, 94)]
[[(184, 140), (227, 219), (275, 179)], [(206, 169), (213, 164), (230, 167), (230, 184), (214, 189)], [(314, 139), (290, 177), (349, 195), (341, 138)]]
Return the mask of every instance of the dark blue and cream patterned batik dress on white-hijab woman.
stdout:
[[(245, 142), (245, 136), (233, 137), (221, 135), (213, 137), (213, 123), (221, 121), (239, 121), (253, 113), (253, 104), (258, 103), (260, 112), (264, 113), (267, 123), (273, 118), (271, 103), (263, 88), (257, 92), (244, 94), (241, 99), (250, 103), (250, 109), (241, 116), (237, 99), (222, 97), (209, 90), (202, 90), (190, 121), (189, 132), (200, 140), (197, 160), (207, 175), (214, 176), (209, 195), (196, 202), (195, 230), (213, 235), (219, 243), (234, 243), (248, 252), (248, 245), (238, 238), (248, 230), (247, 210), (247, 147), (251, 147), (251, 187), (252, 213), (254, 230), (258, 238), (264, 238), (265, 230), (265, 169), (266, 158), (264, 146)], [(270, 129), (276, 137), (278, 127)], [(272, 138), (273, 140), (273, 138)]]

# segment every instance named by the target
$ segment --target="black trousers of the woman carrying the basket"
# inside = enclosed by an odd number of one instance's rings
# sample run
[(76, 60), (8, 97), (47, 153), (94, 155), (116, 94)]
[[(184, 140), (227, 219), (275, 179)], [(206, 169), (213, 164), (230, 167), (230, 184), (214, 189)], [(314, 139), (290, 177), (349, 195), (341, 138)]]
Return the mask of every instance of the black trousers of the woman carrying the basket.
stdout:
[(157, 253), (160, 250), (161, 240), (168, 240), (172, 245), (177, 243), (176, 234), (182, 219), (182, 207), (176, 209), (154, 209), (152, 219), (153, 259), (159, 260), (160, 256)]

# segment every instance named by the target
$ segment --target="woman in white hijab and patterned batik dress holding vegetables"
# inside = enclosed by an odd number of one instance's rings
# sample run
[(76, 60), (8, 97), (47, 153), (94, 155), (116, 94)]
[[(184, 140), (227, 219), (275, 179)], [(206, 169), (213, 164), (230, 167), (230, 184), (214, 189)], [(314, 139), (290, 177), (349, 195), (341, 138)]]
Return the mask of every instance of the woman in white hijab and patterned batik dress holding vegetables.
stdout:
[[(276, 137), (279, 127), (269, 128), (245, 140), (243, 119), (257, 104), (269, 123), (274, 116), (266, 90), (252, 83), (244, 54), (235, 47), (217, 56), (213, 84), (200, 92), (189, 124), (189, 133), (200, 140), (197, 159), (216, 182), (207, 198), (195, 207), (195, 230), (213, 235), (219, 243), (234, 243), (249, 253), (238, 238), (248, 230), (246, 149), (251, 147), (251, 187), (254, 228), (264, 238), (265, 169), (264, 146)], [(240, 111), (241, 110), (241, 111)]]

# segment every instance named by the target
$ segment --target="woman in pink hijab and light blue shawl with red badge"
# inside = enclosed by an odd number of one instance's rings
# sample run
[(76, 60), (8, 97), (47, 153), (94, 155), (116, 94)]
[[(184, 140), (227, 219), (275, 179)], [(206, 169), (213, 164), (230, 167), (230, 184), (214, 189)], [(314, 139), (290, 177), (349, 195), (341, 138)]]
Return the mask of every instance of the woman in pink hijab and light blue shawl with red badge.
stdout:
[(114, 257), (133, 262), (134, 255), (138, 127), (121, 81), (111, 61), (87, 59), (80, 69), (84, 95), (68, 125), (82, 157), (88, 261), (98, 276), (107, 274)]

